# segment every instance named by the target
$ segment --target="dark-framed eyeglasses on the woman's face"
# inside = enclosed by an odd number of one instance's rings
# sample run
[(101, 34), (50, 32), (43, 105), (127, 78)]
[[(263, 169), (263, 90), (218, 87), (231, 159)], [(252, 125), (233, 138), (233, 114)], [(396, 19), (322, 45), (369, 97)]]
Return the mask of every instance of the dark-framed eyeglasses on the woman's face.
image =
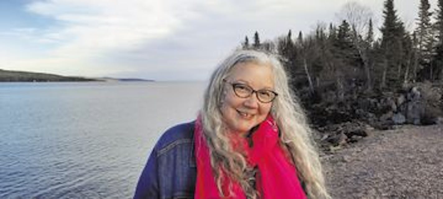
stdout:
[(272, 102), (278, 96), (276, 92), (273, 92), (268, 89), (260, 89), (258, 91), (254, 90), (247, 84), (241, 84), (241, 83), (231, 83), (227, 82), (226, 80), (223, 80), (224, 82), (231, 84), (232, 89), (234, 90), (234, 93), (236, 96), (240, 98), (248, 98), (250, 97), (254, 92), (257, 96), (257, 99), (262, 103), (269, 103)]

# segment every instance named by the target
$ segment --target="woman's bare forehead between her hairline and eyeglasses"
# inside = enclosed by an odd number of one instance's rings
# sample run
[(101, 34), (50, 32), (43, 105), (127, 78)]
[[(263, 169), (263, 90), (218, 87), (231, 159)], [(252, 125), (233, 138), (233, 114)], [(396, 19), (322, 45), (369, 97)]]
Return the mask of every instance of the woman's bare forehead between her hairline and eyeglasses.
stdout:
[(274, 75), (269, 64), (256, 62), (238, 63), (234, 65), (230, 72), (230, 77), (234, 81), (241, 81), (256, 88), (274, 87)]

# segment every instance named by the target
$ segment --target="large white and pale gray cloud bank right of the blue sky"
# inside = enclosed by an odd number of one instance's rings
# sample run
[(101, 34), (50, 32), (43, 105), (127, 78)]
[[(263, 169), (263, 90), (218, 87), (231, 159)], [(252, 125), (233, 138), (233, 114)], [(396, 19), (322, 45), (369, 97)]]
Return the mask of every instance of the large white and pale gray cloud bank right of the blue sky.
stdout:
[[(335, 5), (328, 2), (324, 4)], [(187, 69), (203, 69), (206, 74), (245, 34), (257, 30), (263, 38), (272, 39), (297, 26), (294, 21), (303, 14), (314, 17), (330, 6), (314, 9), (315, 4), (292, 0), (34, 1), (26, 6), (27, 11), (58, 23), (29, 32), (28, 37), (57, 45), (47, 52), (48, 59), (24, 62), (81, 75), (100, 70), (104, 74), (173, 74)]]

